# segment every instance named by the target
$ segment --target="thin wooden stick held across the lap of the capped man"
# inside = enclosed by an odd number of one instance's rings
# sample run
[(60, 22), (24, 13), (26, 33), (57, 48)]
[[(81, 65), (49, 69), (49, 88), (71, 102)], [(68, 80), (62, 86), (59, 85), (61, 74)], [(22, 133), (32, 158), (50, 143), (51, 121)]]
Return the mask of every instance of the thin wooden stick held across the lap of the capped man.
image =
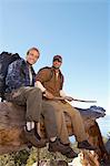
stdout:
[[(66, 96), (66, 97), (54, 97), (53, 100), (58, 100), (58, 101), (64, 101), (68, 100), (70, 97)], [(77, 98), (72, 98), (71, 101), (76, 101), (76, 102), (84, 102), (84, 103), (97, 103), (97, 101), (86, 101), (86, 100), (77, 100)]]

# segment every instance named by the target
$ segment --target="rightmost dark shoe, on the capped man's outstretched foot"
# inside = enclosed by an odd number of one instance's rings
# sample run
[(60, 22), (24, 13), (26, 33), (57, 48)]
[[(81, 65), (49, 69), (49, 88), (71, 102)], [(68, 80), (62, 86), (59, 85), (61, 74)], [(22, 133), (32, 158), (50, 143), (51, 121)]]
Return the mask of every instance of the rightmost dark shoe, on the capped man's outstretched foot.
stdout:
[(78, 148), (84, 148), (84, 149), (90, 149), (90, 151), (94, 151), (96, 149), (96, 147), (90, 145), (88, 143), (88, 141), (83, 141), (83, 142), (78, 143)]

